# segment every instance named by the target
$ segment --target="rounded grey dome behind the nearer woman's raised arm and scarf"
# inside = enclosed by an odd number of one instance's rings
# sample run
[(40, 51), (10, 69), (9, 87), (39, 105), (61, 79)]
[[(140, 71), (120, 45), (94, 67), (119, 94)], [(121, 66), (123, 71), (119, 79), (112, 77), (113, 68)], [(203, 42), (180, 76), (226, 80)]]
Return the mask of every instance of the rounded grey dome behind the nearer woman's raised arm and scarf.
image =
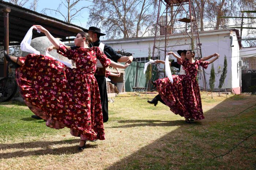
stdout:
[[(59, 43), (62, 43), (60, 40), (58, 40), (58, 41), (59, 41)], [(45, 55), (45, 51), (46, 51), (47, 47), (53, 46), (53, 44), (48, 40), (48, 38), (46, 36), (42, 36), (42, 37), (37, 37), (37, 38), (32, 39), (30, 46), (35, 48), (35, 50), (39, 51), (40, 54)], [(25, 52), (25, 51), (22, 52), (22, 56), (26, 56), (28, 54), (29, 54), (29, 52)], [(57, 59), (60, 59), (60, 60), (63, 60), (65, 62), (72, 64), (71, 60), (58, 54), (56, 50), (50, 51), (49, 54)]]

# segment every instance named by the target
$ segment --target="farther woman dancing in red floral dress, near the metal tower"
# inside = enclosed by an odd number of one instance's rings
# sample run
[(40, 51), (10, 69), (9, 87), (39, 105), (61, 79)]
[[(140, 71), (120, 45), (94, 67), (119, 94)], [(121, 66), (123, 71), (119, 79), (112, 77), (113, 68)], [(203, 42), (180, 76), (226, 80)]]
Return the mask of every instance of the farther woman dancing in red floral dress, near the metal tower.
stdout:
[[(157, 87), (159, 95), (166, 105), (170, 107), (170, 110), (174, 114), (184, 116), (185, 122), (191, 123), (189, 118), (195, 120), (203, 119), (200, 89), (196, 81), (197, 70), (199, 66), (207, 68), (208, 64), (214, 62), (219, 55), (215, 53), (204, 57), (202, 60), (194, 60), (195, 52), (188, 50), (186, 54), (188, 60), (184, 60), (173, 52), (168, 52), (168, 55), (170, 54), (177, 58), (186, 75), (172, 75), (173, 83), (170, 83), (169, 78), (163, 78), (156, 80), (153, 84)], [(217, 56), (217, 58), (210, 62), (204, 62), (204, 60), (210, 59), (213, 56)]]

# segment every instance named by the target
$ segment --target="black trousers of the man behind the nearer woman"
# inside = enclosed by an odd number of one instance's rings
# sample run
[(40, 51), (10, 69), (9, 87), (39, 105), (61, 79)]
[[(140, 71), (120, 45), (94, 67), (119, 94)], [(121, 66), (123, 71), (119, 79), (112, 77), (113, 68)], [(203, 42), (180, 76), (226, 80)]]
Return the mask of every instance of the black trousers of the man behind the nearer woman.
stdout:
[(99, 95), (101, 96), (103, 122), (107, 122), (109, 119), (109, 112), (108, 112), (108, 92), (107, 92), (105, 75), (103, 76), (95, 75), (95, 78), (97, 80), (98, 87), (99, 87)]

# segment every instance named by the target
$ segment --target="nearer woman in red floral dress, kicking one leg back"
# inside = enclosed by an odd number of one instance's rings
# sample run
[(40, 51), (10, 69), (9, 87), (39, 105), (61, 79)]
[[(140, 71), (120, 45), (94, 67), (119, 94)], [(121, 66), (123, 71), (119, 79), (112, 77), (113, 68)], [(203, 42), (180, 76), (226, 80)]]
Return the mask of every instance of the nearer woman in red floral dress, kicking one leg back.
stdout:
[(76, 35), (75, 50), (68, 49), (42, 26), (34, 25), (45, 33), (57, 52), (74, 60), (76, 68), (44, 55), (29, 54), (15, 57), (5, 54), (7, 61), (16, 65), (16, 78), (20, 94), (34, 114), (47, 120), (46, 126), (61, 129), (68, 127), (71, 134), (80, 137), (79, 150), (86, 140), (105, 140), (101, 100), (98, 84), (94, 77), (97, 59), (102, 66), (126, 68), (112, 62), (98, 47), (88, 47), (88, 33)]

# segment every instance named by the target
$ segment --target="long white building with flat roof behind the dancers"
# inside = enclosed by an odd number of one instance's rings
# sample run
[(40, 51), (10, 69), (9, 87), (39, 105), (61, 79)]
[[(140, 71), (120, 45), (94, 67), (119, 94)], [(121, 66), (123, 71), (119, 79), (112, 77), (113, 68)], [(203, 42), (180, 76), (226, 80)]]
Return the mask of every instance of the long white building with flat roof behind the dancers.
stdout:
[[(227, 56), (227, 78), (225, 79), (226, 88), (229, 91), (240, 94), (241, 91), (241, 69), (238, 67), (240, 59), (239, 51), (241, 41), (239, 32), (236, 29), (219, 29), (214, 31), (200, 32), (200, 43), (202, 43), (202, 55), (208, 56), (215, 52), (220, 54), (220, 58), (214, 62), (215, 68), (215, 89), (218, 89), (219, 78), (224, 63), (224, 56)], [(148, 48), (151, 48), (151, 53), (154, 45), (154, 36), (138, 37), (129, 39), (104, 40), (104, 44), (110, 45), (114, 50), (124, 50), (125, 52), (133, 53), (134, 58), (147, 58)], [(165, 43), (165, 36), (158, 36), (156, 46), (162, 47)], [(187, 44), (183, 46), (178, 46)], [(191, 48), (190, 38), (186, 34), (173, 34), (167, 37), (167, 51), (189, 50)], [(156, 49), (157, 50), (157, 49)], [(164, 60), (164, 52), (157, 50), (160, 54), (160, 59)], [(155, 53), (156, 54), (156, 53)], [(177, 54), (177, 53), (176, 53)], [(152, 56), (152, 55), (151, 55)], [(173, 57), (174, 58), (174, 57)], [(161, 64), (163, 68), (164, 65)], [(218, 68), (221, 67), (219, 70)], [(209, 83), (211, 66), (205, 70), (206, 82)], [(199, 80), (200, 86), (203, 86), (202, 79)], [(201, 85), (202, 84), (202, 85)], [(209, 85), (208, 85), (209, 88)], [(224, 88), (224, 86), (223, 86)]]

